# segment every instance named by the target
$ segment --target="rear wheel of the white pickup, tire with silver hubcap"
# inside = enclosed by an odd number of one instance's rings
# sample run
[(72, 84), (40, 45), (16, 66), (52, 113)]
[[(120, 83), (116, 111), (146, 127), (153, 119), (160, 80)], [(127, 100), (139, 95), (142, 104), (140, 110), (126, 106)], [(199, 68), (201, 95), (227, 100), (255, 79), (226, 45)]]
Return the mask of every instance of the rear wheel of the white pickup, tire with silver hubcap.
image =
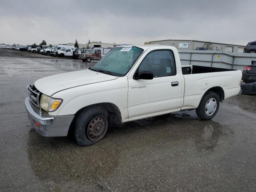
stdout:
[[(208, 107), (206, 105), (208, 105)], [(218, 94), (208, 91), (202, 97), (200, 104), (196, 109), (196, 114), (202, 120), (210, 120), (218, 112), (219, 106), (220, 98)]]

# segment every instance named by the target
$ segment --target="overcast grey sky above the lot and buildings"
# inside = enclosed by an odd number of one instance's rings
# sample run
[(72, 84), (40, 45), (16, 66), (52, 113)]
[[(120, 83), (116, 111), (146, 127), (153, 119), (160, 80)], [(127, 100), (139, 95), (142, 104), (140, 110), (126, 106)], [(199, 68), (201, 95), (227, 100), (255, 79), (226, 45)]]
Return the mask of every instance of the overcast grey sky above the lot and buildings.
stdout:
[(256, 40), (256, 0), (0, 0), (0, 43)]

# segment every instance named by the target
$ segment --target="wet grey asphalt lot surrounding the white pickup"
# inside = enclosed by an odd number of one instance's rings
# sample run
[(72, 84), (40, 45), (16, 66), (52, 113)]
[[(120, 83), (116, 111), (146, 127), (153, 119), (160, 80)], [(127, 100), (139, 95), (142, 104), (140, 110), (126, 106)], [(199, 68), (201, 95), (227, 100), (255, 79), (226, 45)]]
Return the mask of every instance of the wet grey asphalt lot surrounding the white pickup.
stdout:
[(93, 63), (3, 50), (0, 192), (256, 190), (256, 96), (224, 100), (209, 121), (194, 110), (167, 114), (111, 127), (80, 147), (72, 136), (44, 138), (32, 129), (26, 85)]

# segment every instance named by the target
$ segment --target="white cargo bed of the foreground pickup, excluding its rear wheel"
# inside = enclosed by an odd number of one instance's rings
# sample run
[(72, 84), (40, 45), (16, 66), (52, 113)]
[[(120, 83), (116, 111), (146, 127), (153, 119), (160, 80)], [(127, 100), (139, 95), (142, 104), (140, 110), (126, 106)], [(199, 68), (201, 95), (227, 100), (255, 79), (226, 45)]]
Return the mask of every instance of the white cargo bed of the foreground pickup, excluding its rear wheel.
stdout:
[(240, 70), (188, 65), (182, 66), (182, 74), (185, 84), (182, 110), (197, 108), (209, 88), (221, 88), (225, 99), (240, 91)]

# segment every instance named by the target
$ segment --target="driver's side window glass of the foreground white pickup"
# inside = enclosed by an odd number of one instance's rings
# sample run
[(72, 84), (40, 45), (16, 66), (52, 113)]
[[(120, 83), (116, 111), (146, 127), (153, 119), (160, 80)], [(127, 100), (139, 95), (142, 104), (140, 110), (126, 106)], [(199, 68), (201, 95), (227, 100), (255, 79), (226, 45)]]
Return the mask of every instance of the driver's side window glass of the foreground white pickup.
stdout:
[(138, 73), (151, 71), (154, 77), (176, 75), (174, 56), (171, 50), (150, 52), (139, 66)]

